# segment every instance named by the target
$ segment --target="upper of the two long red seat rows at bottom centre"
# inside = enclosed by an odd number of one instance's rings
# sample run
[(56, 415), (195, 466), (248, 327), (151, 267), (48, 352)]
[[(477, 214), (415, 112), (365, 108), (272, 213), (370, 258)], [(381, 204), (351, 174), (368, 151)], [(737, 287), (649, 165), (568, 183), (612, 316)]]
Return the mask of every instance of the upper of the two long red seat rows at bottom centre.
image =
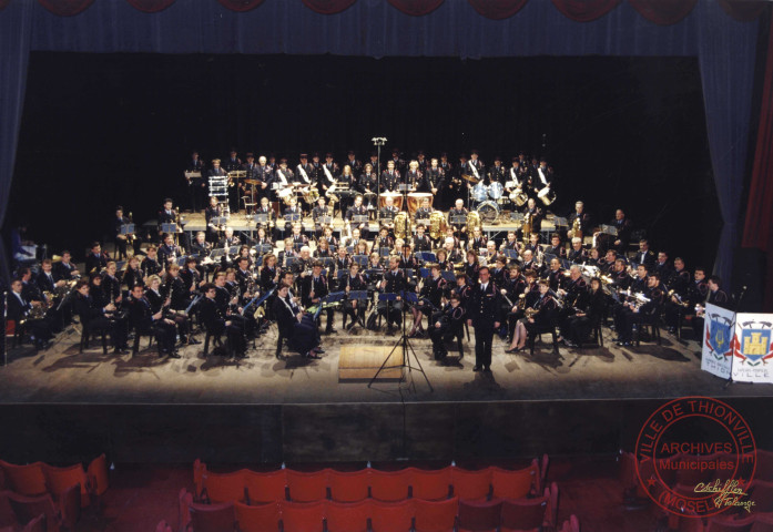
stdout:
[(406, 468), (399, 471), (363, 469), (342, 472), (324, 469), (315, 472), (282, 469), (256, 472), (242, 469), (230, 473), (213, 473), (206, 466), (194, 463), (195, 498), (208, 502), (314, 502), (333, 500), (357, 502), (377, 499), (391, 502), (408, 498), (443, 500), (458, 497), (466, 500), (520, 499), (542, 492), (548, 467), (547, 454), (540, 464), (537, 459), (520, 470), (489, 467), (477, 471), (455, 466), (423, 470)]

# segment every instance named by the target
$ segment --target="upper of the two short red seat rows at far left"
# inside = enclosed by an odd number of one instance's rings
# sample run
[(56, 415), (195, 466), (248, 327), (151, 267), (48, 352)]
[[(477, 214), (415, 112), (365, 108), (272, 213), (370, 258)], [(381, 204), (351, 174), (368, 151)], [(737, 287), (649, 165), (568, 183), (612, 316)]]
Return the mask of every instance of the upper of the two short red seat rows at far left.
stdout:
[(11, 490), (20, 495), (50, 494), (58, 499), (61, 493), (80, 485), (80, 504), (85, 508), (92, 498), (108, 490), (108, 460), (96, 457), (84, 470), (80, 463), (58, 468), (43, 462), (17, 466), (0, 460), (0, 490)]

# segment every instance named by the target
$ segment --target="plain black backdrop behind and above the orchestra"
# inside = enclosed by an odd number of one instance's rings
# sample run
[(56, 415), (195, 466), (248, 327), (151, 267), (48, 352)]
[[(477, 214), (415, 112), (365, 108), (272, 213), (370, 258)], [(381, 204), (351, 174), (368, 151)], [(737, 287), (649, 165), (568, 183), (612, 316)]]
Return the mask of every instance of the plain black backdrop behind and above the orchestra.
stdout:
[[(711, 267), (721, 228), (693, 58), (462, 61), (33, 52), (11, 221), (77, 256), (116, 203), (136, 222), (204, 158), (348, 149), (547, 155), (565, 213), (623, 206), (657, 247)], [(543, 136), (545, 135), (545, 136)]]

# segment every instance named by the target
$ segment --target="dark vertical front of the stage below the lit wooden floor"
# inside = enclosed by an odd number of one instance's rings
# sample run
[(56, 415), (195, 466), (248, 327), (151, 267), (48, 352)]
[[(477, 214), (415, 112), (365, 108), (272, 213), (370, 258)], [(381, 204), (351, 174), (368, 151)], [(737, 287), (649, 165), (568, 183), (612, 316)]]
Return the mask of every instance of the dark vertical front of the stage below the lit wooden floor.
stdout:
[[(725, 399), (773, 448), (773, 398)], [(632, 449), (664, 401), (335, 405), (3, 405), (0, 456), (72, 463), (470, 460)]]

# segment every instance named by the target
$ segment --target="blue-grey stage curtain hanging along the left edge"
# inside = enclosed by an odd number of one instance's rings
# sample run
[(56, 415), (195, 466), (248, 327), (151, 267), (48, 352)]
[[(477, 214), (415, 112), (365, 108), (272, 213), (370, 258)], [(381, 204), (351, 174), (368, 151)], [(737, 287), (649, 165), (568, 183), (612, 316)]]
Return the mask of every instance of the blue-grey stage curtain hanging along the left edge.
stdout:
[[(0, 225), (6, 219), (30, 55), (32, 2), (12, 2), (0, 16)], [(9, 279), (0, 236), (0, 276)]]

